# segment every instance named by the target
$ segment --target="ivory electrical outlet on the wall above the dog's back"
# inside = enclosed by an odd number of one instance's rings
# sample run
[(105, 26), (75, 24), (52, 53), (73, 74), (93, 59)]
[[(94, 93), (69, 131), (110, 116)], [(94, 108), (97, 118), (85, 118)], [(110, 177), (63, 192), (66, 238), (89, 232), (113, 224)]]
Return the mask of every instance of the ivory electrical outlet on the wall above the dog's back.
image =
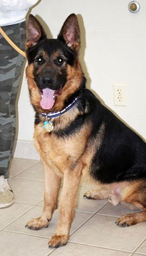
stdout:
[(113, 84), (114, 105), (126, 106), (126, 85)]

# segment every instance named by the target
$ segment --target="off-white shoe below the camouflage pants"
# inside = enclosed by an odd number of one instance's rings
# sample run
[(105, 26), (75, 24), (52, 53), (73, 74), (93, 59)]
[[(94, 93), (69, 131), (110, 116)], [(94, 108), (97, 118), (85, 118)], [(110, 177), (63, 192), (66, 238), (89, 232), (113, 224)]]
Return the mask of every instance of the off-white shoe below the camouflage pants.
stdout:
[(0, 175), (0, 208), (5, 208), (14, 203), (14, 194), (11, 190), (8, 179)]

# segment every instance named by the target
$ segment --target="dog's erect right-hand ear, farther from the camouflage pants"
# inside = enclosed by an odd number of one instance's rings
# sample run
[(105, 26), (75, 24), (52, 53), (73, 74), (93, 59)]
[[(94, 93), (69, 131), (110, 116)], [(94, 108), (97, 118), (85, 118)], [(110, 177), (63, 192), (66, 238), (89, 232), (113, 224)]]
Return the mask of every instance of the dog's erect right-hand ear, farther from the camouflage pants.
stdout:
[(57, 39), (64, 41), (72, 50), (79, 50), (80, 29), (74, 13), (69, 15), (65, 20)]

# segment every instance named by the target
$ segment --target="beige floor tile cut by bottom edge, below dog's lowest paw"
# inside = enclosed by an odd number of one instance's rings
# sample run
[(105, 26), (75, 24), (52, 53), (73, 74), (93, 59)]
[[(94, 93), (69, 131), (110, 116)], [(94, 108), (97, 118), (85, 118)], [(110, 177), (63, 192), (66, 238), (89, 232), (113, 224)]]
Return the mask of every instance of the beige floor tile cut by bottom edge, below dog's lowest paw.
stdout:
[(68, 243), (66, 246), (58, 248), (51, 254), (52, 256), (129, 256), (123, 251), (113, 251), (94, 246), (85, 246)]

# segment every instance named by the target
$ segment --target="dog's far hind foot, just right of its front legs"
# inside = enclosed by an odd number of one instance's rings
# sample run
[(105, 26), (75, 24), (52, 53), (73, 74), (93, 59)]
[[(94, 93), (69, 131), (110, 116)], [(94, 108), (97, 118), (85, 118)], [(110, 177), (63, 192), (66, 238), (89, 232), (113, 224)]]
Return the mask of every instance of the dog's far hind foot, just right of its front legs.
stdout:
[(98, 185), (97, 189), (87, 191), (84, 197), (88, 199), (104, 199), (108, 198), (111, 185)]

